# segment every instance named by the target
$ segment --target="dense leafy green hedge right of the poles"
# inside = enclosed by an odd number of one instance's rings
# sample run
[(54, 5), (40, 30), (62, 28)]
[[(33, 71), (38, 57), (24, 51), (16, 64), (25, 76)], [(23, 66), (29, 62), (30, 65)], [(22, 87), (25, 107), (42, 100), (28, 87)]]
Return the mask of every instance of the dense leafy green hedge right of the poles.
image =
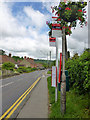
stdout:
[(81, 56), (75, 54), (72, 59), (66, 61), (66, 69), (70, 76), (70, 87), (73, 87), (79, 94), (90, 91), (89, 58), (90, 53), (85, 50)]

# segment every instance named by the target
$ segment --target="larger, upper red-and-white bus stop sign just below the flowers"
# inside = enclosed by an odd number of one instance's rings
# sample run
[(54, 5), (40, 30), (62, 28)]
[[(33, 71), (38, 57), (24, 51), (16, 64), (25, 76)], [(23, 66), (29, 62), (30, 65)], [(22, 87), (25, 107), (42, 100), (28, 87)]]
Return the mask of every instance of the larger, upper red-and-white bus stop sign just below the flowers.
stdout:
[(62, 37), (62, 29), (60, 24), (52, 24), (52, 37)]

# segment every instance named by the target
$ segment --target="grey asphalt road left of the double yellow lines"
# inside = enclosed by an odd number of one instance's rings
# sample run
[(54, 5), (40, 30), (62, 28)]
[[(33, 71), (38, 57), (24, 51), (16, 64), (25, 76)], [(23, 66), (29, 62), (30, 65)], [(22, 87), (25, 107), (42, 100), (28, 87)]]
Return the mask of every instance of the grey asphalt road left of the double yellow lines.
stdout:
[[(45, 70), (25, 73), (2, 80), (2, 114), (37, 80)], [(1, 116), (1, 115), (0, 115)]]

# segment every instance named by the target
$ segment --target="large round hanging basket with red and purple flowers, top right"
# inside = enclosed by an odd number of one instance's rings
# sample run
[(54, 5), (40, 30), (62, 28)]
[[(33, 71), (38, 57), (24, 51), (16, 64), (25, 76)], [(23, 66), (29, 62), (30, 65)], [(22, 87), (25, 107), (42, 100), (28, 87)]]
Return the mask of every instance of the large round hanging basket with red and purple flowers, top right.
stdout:
[(53, 7), (52, 10), (56, 11), (56, 15), (58, 15), (62, 21), (70, 22), (71, 24), (74, 22), (74, 27), (76, 27), (77, 20), (80, 20), (80, 24), (86, 23), (86, 11), (84, 9), (86, 5), (87, 2), (60, 2), (59, 6)]

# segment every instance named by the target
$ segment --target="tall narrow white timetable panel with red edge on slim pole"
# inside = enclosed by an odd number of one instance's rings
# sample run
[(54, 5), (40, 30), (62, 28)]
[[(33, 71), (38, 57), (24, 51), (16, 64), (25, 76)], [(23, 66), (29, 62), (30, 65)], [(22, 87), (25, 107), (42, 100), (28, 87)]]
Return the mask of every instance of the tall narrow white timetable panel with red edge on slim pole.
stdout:
[(57, 87), (57, 69), (56, 66), (52, 66), (52, 87)]

